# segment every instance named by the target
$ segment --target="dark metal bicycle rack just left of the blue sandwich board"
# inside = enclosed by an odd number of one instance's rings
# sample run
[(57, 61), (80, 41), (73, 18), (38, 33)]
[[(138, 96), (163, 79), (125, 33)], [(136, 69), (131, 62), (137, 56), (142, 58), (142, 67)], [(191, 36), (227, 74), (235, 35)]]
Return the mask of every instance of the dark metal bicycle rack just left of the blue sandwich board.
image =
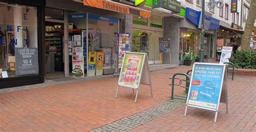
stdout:
[[(189, 73), (189, 72), (187, 72), (187, 73)], [(175, 78), (177, 75), (186, 76), (186, 80), (180, 79), (180, 78)], [(190, 84), (189, 84), (189, 83), (190, 83), (190, 77), (189, 77), (189, 75), (183, 74), (183, 73), (177, 73), (177, 74), (174, 74), (174, 75), (172, 76), (172, 78), (169, 78), (169, 79), (172, 79), (172, 84), (169, 84), (169, 86), (172, 86), (171, 99), (174, 98), (174, 85), (180, 86), (180, 87), (184, 87), (184, 86), (181, 86), (181, 84), (182, 84), (183, 81), (186, 81), (186, 86), (185, 86), (184, 88), (185, 88), (186, 91), (188, 91), (189, 85), (190, 85)], [(179, 80), (179, 84), (175, 84), (175, 83), (174, 83), (174, 82), (175, 82), (175, 79), (178, 79), (178, 80)], [(186, 94), (187, 94), (187, 92), (186, 92)], [(177, 96), (177, 97), (184, 98), (184, 97), (182, 97), (182, 96)]]

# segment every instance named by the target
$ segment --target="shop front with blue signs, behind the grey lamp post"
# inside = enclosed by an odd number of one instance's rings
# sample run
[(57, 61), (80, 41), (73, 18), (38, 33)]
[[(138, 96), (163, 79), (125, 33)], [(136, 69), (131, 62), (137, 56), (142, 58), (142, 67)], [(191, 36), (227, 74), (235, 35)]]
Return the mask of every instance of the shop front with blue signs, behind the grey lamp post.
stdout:
[[(209, 26), (205, 28), (204, 33), (204, 61), (215, 59), (217, 48), (217, 30), (220, 26), (220, 20), (205, 15), (205, 21), (209, 21)], [(207, 20), (208, 19), (208, 20)], [(181, 20), (180, 28), (180, 46), (179, 60), (183, 64), (185, 53), (189, 53), (192, 60), (196, 60), (200, 54), (201, 43), (201, 11), (186, 8), (186, 17)]]

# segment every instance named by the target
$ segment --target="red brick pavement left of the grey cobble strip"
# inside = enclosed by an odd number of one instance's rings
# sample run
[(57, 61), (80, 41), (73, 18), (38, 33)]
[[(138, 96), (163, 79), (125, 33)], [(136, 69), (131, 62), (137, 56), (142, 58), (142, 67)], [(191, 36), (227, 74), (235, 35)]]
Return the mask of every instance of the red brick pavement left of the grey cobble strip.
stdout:
[[(137, 103), (131, 89), (120, 87), (117, 77), (0, 93), (0, 131), (85, 131), (123, 119), (169, 99), (169, 77), (191, 67), (151, 72), (149, 86), (142, 85)], [(47, 85), (47, 84), (46, 84)], [(176, 90), (176, 94), (184, 89)]]

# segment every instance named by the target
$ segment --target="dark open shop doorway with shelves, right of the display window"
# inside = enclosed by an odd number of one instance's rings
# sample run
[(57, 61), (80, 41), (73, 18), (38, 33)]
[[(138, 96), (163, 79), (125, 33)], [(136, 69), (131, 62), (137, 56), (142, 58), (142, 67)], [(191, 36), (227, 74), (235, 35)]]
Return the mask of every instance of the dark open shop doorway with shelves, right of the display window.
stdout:
[(45, 8), (46, 79), (64, 77), (64, 11)]

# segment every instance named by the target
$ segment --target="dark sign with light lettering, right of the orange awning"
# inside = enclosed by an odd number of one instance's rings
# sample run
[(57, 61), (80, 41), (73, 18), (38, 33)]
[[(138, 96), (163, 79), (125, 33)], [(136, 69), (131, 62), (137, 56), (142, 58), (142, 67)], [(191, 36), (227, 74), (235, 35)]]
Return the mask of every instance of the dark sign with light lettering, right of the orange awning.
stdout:
[(152, 8), (163, 8), (174, 13), (180, 13), (180, 2), (176, 0), (154, 0)]

